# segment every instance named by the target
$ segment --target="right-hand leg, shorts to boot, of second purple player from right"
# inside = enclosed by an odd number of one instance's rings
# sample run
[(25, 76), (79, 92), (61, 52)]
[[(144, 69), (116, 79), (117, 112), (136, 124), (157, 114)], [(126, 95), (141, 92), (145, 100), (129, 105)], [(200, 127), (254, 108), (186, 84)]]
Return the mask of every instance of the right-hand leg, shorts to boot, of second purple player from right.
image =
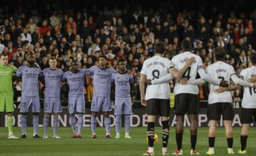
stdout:
[(110, 104), (110, 96), (102, 98), (102, 114), (104, 116), (104, 126), (106, 129), (106, 138), (112, 138), (110, 135), (110, 113), (111, 104)]

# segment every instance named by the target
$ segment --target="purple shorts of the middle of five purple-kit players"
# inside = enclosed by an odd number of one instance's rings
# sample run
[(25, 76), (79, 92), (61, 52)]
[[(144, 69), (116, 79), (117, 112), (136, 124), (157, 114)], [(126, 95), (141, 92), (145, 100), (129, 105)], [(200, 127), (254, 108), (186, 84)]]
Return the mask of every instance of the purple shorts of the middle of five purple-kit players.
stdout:
[(86, 112), (86, 102), (84, 100), (84, 95), (82, 96), (69, 96), (69, 114), (75, 112), (85, 113)]

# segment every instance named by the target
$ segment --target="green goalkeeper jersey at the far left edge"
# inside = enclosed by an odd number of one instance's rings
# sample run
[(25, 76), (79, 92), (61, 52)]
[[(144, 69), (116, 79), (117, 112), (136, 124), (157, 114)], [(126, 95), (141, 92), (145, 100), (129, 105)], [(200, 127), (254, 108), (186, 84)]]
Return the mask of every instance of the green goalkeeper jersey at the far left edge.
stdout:
[(16, 71), (15, 66), (0, 65), (0, 96), (13, 96), (12, 76)]

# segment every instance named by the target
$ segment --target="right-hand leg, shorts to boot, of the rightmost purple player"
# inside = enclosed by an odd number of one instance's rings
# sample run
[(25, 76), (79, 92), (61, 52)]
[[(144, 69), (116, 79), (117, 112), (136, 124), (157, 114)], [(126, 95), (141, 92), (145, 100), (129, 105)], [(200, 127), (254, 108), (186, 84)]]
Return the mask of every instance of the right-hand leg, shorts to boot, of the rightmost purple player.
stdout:
[(131, 139), (129, 135), (130, 125), (131, 125), (131, 114), (133, 114), (131, 106), (131, 98), (125, 99), (125, 105), (123, 107), (123, 112), (125, 114), (125, 139)]

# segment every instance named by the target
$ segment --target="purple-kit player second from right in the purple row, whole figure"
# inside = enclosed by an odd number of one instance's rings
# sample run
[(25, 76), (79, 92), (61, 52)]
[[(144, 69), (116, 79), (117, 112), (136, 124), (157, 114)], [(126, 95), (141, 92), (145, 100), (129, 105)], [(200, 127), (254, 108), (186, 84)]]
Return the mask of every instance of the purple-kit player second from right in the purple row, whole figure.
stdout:
[(106, 138), (112, 138), (110, 135), (110, 89), (111, 75), (115, 72), (113, 68), (106, 66), (106, 56), (100, 56), (99, 66), (92, 66), (89, 70), (93, 73), (93, 96), (91, 102), (91, 129), (92, 138), (96, 139), (96, 116), (100, 110), (104, 116), (104, 126), (106, 129)]

